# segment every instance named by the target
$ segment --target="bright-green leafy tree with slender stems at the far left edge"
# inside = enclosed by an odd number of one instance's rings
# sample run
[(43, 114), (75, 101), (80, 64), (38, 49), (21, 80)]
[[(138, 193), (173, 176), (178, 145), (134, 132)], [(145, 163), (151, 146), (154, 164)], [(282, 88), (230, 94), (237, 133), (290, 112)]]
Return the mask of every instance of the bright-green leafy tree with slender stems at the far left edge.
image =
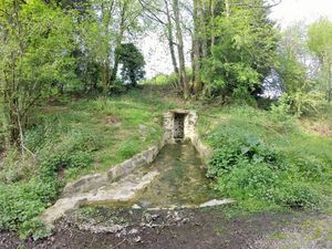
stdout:
[(7, 147), (20, 145), (29, 113), (52, 85), (75, 77), (72, 22), (53, 4), (2, 0), (0, 4), (0, 102)]

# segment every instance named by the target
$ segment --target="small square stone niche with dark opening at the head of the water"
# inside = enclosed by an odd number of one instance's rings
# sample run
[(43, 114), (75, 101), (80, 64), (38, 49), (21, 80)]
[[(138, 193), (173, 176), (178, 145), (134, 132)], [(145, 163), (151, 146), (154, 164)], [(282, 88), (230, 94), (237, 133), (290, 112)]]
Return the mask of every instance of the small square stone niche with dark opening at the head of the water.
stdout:
[(174, 110), (164, 114), (165, 142), (169, 144), (193, 139), (197, 113), (188, 110)]

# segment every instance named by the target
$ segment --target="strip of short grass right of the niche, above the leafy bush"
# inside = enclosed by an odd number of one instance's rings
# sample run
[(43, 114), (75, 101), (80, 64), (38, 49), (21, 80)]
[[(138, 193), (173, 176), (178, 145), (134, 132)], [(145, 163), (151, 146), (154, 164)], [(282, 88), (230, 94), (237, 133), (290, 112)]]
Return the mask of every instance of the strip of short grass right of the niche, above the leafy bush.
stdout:
[(200, 114), (198, 129), (206, 143), (209, 135), (224, 129), (229, 136), (259, 137), (289, 156), (314, 155), (332, 164), (332, 138), (304, 129), (299, 125), (301, 121), (283, 123), (266, 111), (248, 106), (215, 107)]

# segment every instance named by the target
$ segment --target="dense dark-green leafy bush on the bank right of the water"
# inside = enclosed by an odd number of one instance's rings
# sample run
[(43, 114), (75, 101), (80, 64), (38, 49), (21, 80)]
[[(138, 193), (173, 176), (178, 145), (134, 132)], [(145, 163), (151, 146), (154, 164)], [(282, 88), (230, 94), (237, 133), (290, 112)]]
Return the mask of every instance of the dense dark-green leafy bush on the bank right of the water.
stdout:
[(314, 208), (320, 196), (301, 180), (322, 177), (325, 165), (315, 157), (291, 162), (262, 142), (238, 137), (225, 138), (216, 148), (207, 176), (216, 179), (217, 190), (240, 201)]

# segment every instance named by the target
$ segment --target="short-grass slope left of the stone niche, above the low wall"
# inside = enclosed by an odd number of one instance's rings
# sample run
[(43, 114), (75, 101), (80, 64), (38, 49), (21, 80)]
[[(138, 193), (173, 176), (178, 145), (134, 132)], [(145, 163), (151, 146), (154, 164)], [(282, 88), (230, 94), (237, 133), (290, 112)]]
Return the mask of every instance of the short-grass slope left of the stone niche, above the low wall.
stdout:
[[(160, 106), (139, 101), (132, 92), (127, 96), (98, 100), (79, 100), (65, 108), (51, 107), (46, 118), (56, 121), (71, 129), (84, 131), (95, 138), (97, 148), (92, 152), (93, 164), (71, 179), (107, 168), (146, 149), (162, 137)], [(66, 139), (66, 134), (62, 135)]]

